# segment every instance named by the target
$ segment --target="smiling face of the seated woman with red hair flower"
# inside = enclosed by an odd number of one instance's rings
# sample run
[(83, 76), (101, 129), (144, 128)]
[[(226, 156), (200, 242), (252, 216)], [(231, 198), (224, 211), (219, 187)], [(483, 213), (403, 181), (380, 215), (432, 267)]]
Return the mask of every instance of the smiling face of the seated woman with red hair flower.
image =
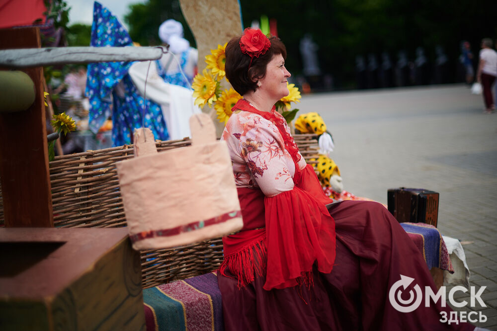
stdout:
[(258, 89), (276, 102), (288, 95), (286, 83), (290, 76), (285, 68), (283, 56), (277, 54), (267, 64), (266, 75), (259, 80), (260, 87)]

